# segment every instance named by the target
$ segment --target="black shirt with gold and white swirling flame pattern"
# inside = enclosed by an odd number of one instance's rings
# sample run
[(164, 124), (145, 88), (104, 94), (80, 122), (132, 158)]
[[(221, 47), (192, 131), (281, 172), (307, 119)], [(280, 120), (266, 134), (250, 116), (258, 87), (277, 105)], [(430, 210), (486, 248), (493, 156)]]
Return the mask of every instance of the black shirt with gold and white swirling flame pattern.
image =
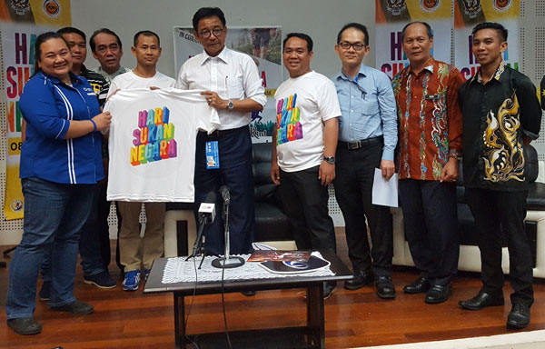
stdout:
[(492, 190), (525, 190), (523, 136), (536, 139), (541, 110), (526, 75), (501, 63), (486, 84), (481, 70), (460, 87), (463, 181)]

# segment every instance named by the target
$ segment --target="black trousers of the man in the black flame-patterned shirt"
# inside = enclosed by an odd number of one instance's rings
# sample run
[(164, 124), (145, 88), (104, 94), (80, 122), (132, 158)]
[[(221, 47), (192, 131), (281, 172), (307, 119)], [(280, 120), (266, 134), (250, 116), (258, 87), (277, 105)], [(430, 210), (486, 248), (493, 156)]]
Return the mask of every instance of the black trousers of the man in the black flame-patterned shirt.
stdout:
[(527, 191), (502, 192), (466, 188), (466, 200), (479, 231), (482, 292), (502, 294), (505, 284), (501, 270), (500, 225), (507, 236), (509, 279), (514, 293), (511, 303), (533, 303), (530, 240), (524, 228)]

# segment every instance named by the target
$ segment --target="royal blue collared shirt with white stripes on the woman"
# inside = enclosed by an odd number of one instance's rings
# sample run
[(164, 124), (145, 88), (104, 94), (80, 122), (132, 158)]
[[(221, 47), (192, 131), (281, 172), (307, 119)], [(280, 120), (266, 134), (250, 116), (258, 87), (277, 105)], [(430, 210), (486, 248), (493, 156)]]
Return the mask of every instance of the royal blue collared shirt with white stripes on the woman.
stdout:
[(94, 184), (104, 177), (100, 132), (64, 139), (74, 120), (100, 113), (93, 88), (70, 72), (72, 85), (40, 71), (28, 80), (19, 100), (26, 121), (21, 178), (62, 184)]

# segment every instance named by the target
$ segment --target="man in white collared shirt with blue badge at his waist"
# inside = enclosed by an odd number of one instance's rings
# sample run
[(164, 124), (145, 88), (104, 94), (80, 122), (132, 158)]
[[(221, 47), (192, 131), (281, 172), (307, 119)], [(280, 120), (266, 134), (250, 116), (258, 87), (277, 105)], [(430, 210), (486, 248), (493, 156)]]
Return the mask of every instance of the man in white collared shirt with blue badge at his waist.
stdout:
[[(252, 251), (253, 174), (252, 140), (248, 124), (252, 112), (266, 103), (262, 79), (249, 55), (225, 46), (225, 16), (217, 7), (203, 7), (193, 15), (193, 29), (203, 53), (188, 59), (180, 69), (176, 87), (204, 90), (209, 105), (220, 117), (219, 130), (197, 135), (195, 154), (195, 207), (220, 186), (231, 190), (229, 231), (231, 253)], [(215, 151), (213, 149), (216, 149)], [(206, 162), (206, 150), (215, 165)], [(218, 204), (221, 195), (218, 194)], [(223, 254), (223, 223), (215, 219), (206, 226), (206, 254)]]

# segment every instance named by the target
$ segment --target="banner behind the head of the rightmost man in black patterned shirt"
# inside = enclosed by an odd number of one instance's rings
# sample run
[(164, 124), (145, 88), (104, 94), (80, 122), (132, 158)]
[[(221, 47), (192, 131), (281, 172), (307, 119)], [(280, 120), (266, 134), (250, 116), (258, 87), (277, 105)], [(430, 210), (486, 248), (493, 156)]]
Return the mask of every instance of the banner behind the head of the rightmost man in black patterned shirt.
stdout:
[(520, 0), (454, 0), (454, 64), (461, 75), (469, 79), (479, 69), (471, 52), (471, 30), (482, 22), (499, 22), (509, 32), (508, 47), (503, 61), (519, 70), (519, 16)]

